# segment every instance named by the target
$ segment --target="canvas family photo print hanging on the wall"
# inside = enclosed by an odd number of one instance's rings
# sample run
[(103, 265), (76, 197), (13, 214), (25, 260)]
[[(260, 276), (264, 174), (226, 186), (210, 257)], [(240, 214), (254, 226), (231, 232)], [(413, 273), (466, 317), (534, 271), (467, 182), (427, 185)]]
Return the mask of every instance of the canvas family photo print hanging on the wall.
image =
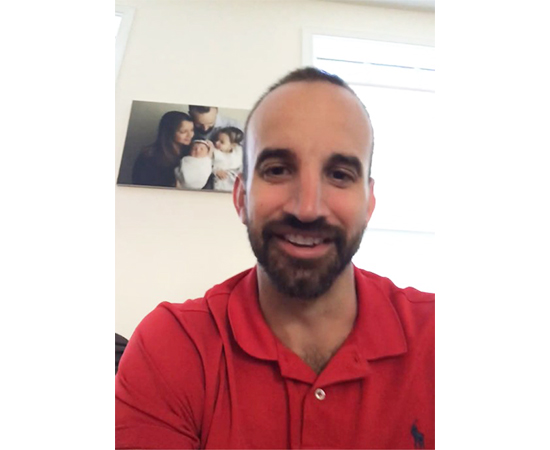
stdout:
[(231, 192), (247, 110), (132, 102), (117, 184)]

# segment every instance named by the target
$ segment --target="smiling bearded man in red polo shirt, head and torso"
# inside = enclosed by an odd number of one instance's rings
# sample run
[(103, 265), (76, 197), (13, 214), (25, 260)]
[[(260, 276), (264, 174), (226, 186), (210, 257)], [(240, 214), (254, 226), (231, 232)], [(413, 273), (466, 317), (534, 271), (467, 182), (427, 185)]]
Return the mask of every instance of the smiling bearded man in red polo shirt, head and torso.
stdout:
[(118, 448), (434, 447), (433, 295), (351, 263), (372, 151), (335, 76), (300, 69), (258, 101), (233, 191), (258, 264), (138, 326)]

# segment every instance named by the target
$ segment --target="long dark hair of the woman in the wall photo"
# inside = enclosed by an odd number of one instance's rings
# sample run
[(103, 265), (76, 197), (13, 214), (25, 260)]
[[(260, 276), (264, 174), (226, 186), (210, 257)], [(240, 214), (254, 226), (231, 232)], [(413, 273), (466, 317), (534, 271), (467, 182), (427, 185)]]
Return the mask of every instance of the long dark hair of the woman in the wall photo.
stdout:
[(155, 158), (160, 165), (177, 165), (187, 150), (184, 145), (174, 143), (174, 136), (182, 122), (193, 122), (193, 119), (181, 111), (169, 111), (160, 119), (157, 139), (145, 149), (147, 155)]

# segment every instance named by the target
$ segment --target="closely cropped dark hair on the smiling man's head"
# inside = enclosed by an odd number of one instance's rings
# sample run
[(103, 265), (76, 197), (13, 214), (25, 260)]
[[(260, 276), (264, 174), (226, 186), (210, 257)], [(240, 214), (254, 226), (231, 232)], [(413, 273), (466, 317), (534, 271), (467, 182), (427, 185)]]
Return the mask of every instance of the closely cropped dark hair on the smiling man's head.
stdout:
[[(279, 81), (277, 81), (275, 84), (273, 84), (271, 87), (269, 87), (267, 89), (267, 91), (265, 91), (262, 94), (262, 96), (258, 99), (258, 101), (254, 104), (254, 106), (250, 110), (250, 113), (248, 114), (248, 117), (246, 119), (246, 123), (245, 123), (245, 126), (244, 126), (244, 136), (245, 136), (245, 138), (244, 138), (244, 142), (243, 142), (243, 172), (242, 173), (243, 173), (243, 178), (244, 178), (245, 181), (246, 181), (246, 178), (248, 176), (247, 175), (247, 172), (248, 172), (248, 157), (247, 157), (248, 151), (247, 151), (246, 137), (248, 135), (248, 127), (250, 125), (250, 120), (252, 118), (252, 115), (254, 114), (256, 109), (258, 109), (258, 106), (260, 106), (260, 103), (262, 103), (265, 100), (265, 98), (269, 94), (271, 94), (275, 89), (277, 89), (281, 86), (284, 86), (285, 84), (299, 82), (299, 81), (305, 81), (305, 82), (311, 82), (311, 83), (313, 83), (315, 81), (321, 81), (321, 82), (325, 82), (325, 83), (334, 84), (336, 86), (340, 86), (340, 87), (346, 89), (347, 91), (351, 92), (354, 95), (354, 97), (359, 101), (359, 104), (363, 107), (365, 113), (367, 114), (367, 117), (369, 119), (369, 125), (370, 125), (371, 131), (372, 131), (372, 124), (370, 123), (370, 115), (369, 115), (369, 112), (367, 111), (367, 108), (365, 107), (365, 105), (363, 104), (361, 99), (357, 96), (357, 94), (354, 92), (354, 90), (342, 78), (340, 78), (338, 75), (334, 75), (334, 74), (325, 72), (324, 70), (317, 69), (316, 67), (311, 67), (311, 66), (301, 67), (299, 69), (293, 70), (292, 72), (288, 73), (283, 78), (281, 78)], [(369, 168), (368, 168), (368, 176), (369, 177), (370, 177), (370, 174), (371, 174), (373, 151), (374, 151), (374, 136), (372, 138), (371, 155), (370, 155)]]

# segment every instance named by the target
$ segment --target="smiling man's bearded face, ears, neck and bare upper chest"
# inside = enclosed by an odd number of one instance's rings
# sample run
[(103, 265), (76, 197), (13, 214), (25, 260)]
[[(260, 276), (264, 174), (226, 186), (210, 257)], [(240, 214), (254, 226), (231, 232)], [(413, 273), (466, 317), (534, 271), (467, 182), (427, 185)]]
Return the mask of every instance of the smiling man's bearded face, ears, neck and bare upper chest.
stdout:
[(248, 178), (233, 198), (258, 258), (260, 306), (320, 371), (356, 316), (350, 261), (375, 206), (368, 117), (342, 87), (291, 82), (258, 106), (247, 142)]

